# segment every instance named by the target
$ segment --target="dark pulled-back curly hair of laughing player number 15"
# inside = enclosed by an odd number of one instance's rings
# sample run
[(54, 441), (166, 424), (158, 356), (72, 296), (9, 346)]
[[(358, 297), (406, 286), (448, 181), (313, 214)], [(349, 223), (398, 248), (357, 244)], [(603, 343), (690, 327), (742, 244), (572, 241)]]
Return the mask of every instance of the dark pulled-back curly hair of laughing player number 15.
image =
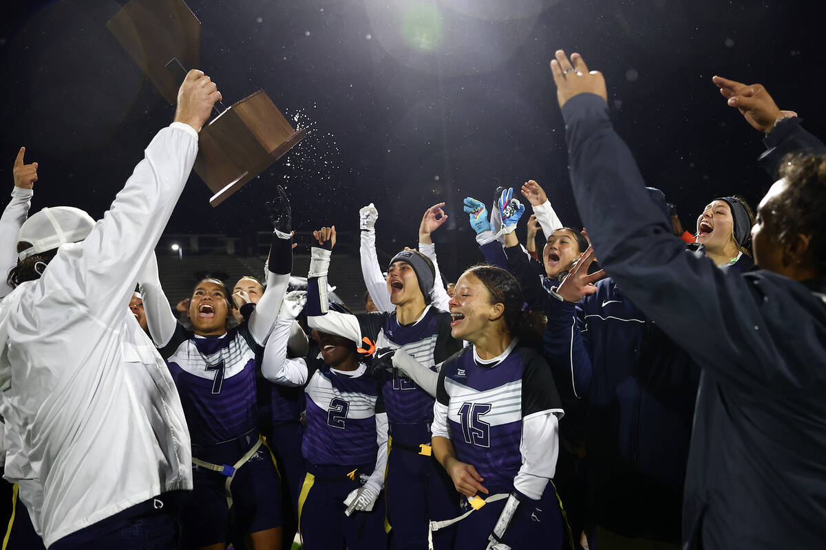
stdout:
[(490, 264), (477, 264), (468, 267), (465, 273), (472, 273), (482, 281), (491, 294), (491, 303), (501, 303), (505, 306), (505, 313), (502, 317), (510, 336), (518, 336), (531, 346), (540, 344), (544, 331), (539, 321), (540, 317), (532, 316), (525, 311), (525, 296), (522, 294), (522, 288), (510, 272)]

